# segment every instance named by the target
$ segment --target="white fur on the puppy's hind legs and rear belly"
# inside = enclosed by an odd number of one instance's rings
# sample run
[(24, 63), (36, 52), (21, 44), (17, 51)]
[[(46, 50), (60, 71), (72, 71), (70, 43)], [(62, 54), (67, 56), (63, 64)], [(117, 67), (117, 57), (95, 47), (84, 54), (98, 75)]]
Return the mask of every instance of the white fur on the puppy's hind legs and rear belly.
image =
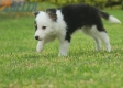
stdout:
[(109, 40), (108, 34), (105, 32), (99, 32), (97, 30), (97, 26), (96, 25), (92, 25), (92, 28), (83, 26), (82, 28), (82, 32), (85, 34), (91, 36), (94, 40), (94, 42), (96, 42), (96, 50), (97, 51), (100, 51), (101, 50), (101, 41), (104, 44), (105, 50), (108, 52), (111, 51), (111, 45), (110, 45), (110, 40)]

